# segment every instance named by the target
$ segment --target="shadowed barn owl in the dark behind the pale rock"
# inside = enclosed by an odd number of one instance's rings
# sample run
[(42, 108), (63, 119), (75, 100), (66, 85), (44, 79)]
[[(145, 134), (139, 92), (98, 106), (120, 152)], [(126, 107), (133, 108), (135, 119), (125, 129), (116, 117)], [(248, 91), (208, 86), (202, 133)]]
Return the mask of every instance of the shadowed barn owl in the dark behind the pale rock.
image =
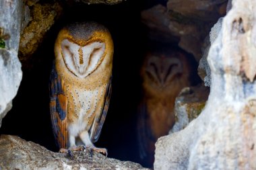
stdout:
[(173, 50), (148, 52), (141, 67), (143, 99), (138, 109), (137, 138), (143, 163), (154, 163), (155, 142), (174, 124), (174, 101), (189, 85), (185, 54)]

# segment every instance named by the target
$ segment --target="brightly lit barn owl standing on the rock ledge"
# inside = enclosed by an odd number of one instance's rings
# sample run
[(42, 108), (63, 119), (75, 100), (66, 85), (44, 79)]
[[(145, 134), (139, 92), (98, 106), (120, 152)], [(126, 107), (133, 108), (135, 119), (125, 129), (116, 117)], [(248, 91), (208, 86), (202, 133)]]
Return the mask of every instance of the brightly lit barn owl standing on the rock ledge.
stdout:
[[(55, 42), (55, 63), (50, 78), (53, 133), (60, 152), (94, 146), (108, 111), (113, 65), (113, 40), (95, 22), (63, 28)], [(79, 145), (82, 144), (82, 145)]]

